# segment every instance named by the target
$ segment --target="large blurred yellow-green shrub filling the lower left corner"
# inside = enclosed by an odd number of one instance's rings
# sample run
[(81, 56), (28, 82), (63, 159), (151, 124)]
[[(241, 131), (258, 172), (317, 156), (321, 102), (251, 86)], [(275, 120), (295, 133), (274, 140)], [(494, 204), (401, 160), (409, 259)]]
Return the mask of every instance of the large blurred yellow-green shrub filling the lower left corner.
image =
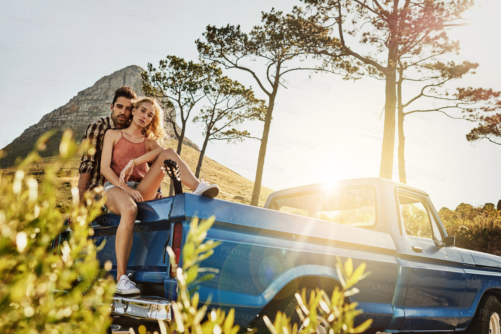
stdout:
[[(37, 147), (43, 149), (49, 135)], [(73, 233), (53, 254), (52, 240), (64, 229), (65, 215), (56, 208), (53, 180), (75, 151), (71, 132), (63, 135), (59, 159), (45, 170), (39, 183), (27, 175), (40, 161), (32, 152), (12, 175), (0, 178), (0, 332), (104, 333), (110, 324), (109, 302), (114, 281), (96, 259), (88, 227), (99, 213), (99, 203), (86, 197), (79, 204), (73, 188)], [(111, 266), (110, 266), (111, 267)], [(80, 277), (80, 281), (78, 278)]]

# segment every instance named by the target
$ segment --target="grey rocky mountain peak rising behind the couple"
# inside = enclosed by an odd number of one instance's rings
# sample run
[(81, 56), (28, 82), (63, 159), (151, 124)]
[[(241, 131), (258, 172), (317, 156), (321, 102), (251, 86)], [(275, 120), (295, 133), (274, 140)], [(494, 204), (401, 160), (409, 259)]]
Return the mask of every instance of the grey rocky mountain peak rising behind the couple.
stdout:
[[(99, 79), (92, 87), (79, 92), (66, 105), (44, 115), (40, 122), (26, 129), (21, 136), (4, 148), (8, 155), (2, 160), (0, 168), (8, 167), (19, 156), (25, 157), (33, 149), (38, 138), (49, 130), (56, 130), (56, 134), (48, 142), (44, 156), (52, 155), (58, 150), (61, 133), (65, 129), (72, 129), (75, 139), (80, 141), (89, 123), (110, 115), (110, 104), (117, 88), (127, 85), (138, 95), (141, 93), (142, 72), (144, 70), (135, 65), (118, 70)], [(183, 143), (198, 149), (188, 139)]]

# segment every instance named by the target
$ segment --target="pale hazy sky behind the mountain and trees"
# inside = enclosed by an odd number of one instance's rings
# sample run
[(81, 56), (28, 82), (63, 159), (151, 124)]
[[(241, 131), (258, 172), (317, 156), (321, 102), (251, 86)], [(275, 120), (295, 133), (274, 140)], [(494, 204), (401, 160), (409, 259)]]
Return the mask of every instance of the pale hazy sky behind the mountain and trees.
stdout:
[[(454, 57), (479, 63), (476, 74), (465, 76), (455, 85), (501, 91), (501, 47), (495, 42), (501, 3), (478, 0), (477, 4), (480, 8), (468, 14), (471, 25), (449, 31), (461, 45), (460, 55)], [(168, 54), (195, 61), (194, 41), (202, 38), (209, 24), (240, 25), (248, 32), (260, 24), (261, 11), (274, 7), (289, 12), (294, 5), (301, 3), (1, 0), (0, 114), (4, 117), (0, 147), (116, 70), (129, 65), (158, 65)], [(152, 11), (161, 13), (161, 17), (148, 16)], [(18, 80), (13, 73), (19, 72), (40, 79)], [(266, 98), (247, 73), (231, 69), (223, 70), (223, 74), (252, 86), (258, 98)], [(334, 74), (309, 77), (303, 71), (291, 72), (288, 82), (288, 88), (279, 90), (275, 101), (262, 184), (280, 190), (377, 177), (384, 82), (372, 78), (345, 81)], [(415, 90), (410, 85), (407, 88), (408, 92)], [(466, 141), (465, 135), (474, 127), (468, 121), (447, 119), (437, 113), (418, 115), (409, 115), (404, 123), (406, 166), (410, 171), (407, 184), (430, 194), (437, 209), (453, 209), (460, 203), (496, 204), (501, 199), (501, 145)], [(260, 137), (263, 125), (257, 121), (241, 129)], [(188, 124), (186, 137), (201, 147), (202, 129), (196, 124)], [(214, 141), (209, 143), (206, 156), (254, 181), (259, 145), (254, 139), (236, 144)], [(398, 181), (396, 168), (393, 180)]]

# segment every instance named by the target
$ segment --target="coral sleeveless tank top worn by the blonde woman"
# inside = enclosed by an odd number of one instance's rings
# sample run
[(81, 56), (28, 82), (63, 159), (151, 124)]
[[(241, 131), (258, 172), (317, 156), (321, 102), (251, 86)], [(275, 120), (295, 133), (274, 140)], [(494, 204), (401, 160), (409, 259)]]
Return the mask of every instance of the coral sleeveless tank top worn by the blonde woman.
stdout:
[[(122, 172), (122, 169), (124, 169), (125, 165), (127, 165), (132, 158), (138, 158), (146, 154), (146, 138), (140, 143), (134, 143), (124, 137), (122, 130), (120, 130), (120, 134), (122, 137), (120, 137), (113, 147), (110, 163), (110, 168), (119, 178), (120, 172)], [(146, 163), (137, 165), (132, 168), (132, 174), (127, 181), (141, 182), (148, 169), (149, 167)]]

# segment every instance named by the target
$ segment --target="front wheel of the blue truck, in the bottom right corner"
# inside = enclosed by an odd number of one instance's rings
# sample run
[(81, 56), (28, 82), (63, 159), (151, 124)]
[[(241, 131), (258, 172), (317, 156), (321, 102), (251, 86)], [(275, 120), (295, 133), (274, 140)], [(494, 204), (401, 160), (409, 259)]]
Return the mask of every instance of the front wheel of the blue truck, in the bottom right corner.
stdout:
[(491, 294), (480, 299), (473, 320), (466, 328), (467, 334), (501, 334), (501, 303)]

